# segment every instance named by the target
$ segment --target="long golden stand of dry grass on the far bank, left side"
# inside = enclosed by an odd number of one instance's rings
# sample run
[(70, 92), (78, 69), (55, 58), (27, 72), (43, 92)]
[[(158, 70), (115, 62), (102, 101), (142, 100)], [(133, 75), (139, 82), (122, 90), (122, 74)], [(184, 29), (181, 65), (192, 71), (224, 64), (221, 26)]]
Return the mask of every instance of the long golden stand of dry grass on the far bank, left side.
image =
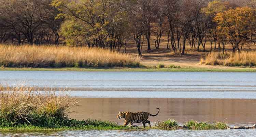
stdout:
[(3, 67), (138, 67), (140, 57), (110, 50), (67, 46), (0, 44)]

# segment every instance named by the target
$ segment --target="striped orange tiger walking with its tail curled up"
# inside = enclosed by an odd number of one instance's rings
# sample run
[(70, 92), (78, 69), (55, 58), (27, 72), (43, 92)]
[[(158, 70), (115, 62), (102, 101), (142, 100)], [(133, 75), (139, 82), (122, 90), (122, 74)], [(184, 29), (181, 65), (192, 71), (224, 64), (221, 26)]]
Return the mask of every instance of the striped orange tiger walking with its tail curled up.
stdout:
[(122, 118), (125, 119), (124, 126), (127, 126), (129, 123), (132, 126), (133, 123), (142, 123), (143, 127), (146, 127), (146, 123), (148, 123), (151, 127), (150, 121), (147, 120), (148, 116), (155, 117), (159, 114), (160, 109), (158, 109), (158, 113), (156, 115), (152, 115), (148, 112), (119, 112), (117, 115), (117, 119), (120, 120)]

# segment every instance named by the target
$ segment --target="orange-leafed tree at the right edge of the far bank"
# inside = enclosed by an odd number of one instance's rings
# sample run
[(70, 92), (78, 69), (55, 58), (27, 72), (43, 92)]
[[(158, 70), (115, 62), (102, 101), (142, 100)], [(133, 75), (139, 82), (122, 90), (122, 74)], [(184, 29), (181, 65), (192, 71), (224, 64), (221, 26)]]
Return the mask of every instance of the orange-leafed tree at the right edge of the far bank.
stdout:
[(220, 12), (214, 17), (217, 31), (224, 35), (233, 46), (233, 52), (241, 51), (242, 46), (251, 34), (255, 14), (250, 7), (237, 7)]

